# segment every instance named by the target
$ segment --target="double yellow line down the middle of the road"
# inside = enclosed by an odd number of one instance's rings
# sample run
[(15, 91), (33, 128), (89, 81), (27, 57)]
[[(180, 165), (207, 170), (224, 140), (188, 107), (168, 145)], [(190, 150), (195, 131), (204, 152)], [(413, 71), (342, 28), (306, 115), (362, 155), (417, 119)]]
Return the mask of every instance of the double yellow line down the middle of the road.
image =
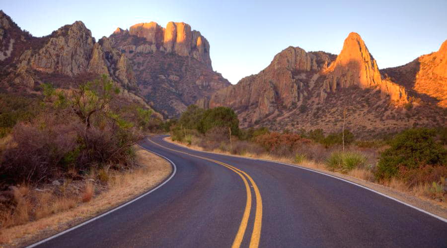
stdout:
[(204, 160), (208, 160), (211, 162), (214, 162), (216, 164), (222, 165), (228, 169), (230, 169), (231, 171), (233, 171), (234, 173), (236, 173), (237, 175), (239, 175), (239, 177), (242, 179), (242, 181), (244, 182), (245, 185), (245, 189), (247, 191), (247, 202), (245, 204), (245, 210), (244, 210), (244, 214), (242, 216), (242, 220), (240, 222), (239, 225), (239, 229), (237, 231), (236, 237), (234, 238), (233, 241), (233, 245), (231, 246), (232, 248), (239, 248), (240, 245), (242, 244), (242, 240), (244, 238), (244, 234), (245, 234), (245, 230), (247, 229), (247, 225), (248, 225), (248, 219), (250, 217), (250, 211), (251, 211), (251, 190), (250, 190), (250, 185), (247, 182), (250, 182), (251, 186), (253, 186), (253, 190), (255, 193), (255, 197), (256, 197), (256, 212), (255, 212), (255, 219), (254, 219), (254, 223), (253, 223), (253, 232), (251, 233), (251, 239), (250, 239), (250, 248), (257, 248), (259, 246), (259, 239), (261, 238), (261, 225), (262, 225), (262, 199), (261, 199), (261, 193), (259, 192), (259, 188), (258, 186), (256, 186), (256, 183), (253, 181), (253, 179), (244, 171), (239, 170), (231, 165), (225, 164), (223, 162), (214, 160), (214, 159), (209, 159), (206, 157), (202, 157), (202, 156), (198, 156), (198, 155), (194, 155), (188, 152), (183, 152), (183, 151), (179, 151), (179, 150), (174, 150), (171, 148), (168, 148), (166, 146), (160, 145), (158, 143), (155, 143), (154, 141), (150, 140), (148, 138), (148, 140), (158, 146), (161, 146), (165, 149), (171, 150), (171, 151), (175, 151), (175, 152), (180, 152), (183, 154), (187, 154), (189, 156), (192, 157), (196, 157), (196, 158), (200, 158), (200, 159), (204, 159)]

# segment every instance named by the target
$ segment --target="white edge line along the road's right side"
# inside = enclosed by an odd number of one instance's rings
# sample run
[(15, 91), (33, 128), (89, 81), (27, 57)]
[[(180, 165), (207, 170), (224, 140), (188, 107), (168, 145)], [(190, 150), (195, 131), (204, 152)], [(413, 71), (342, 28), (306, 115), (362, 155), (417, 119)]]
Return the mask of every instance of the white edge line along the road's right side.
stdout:
[[(166, 138), (166, 137), (165, 137), (165, 138)], [(424, 209), (421, 209), (421, 208), (418, 208), (418, 207), (413, 206), (413, 205), (411, 205), (411, 204), (408, 204), (408, 203), (406, 203), (406, 202), (403, 202), (403, 201), (401, 201), (401, 200), (399, 200), (399, 199), (396, 199), (396, 198), (394, 198), (394, 197), (392, 197), (392, 196), (389, 196), (389, 195), (387, 195), (387, 194), (384, 194), (384, 193), (381, 193), (381, 192), (379, 192), (379, 191), (376, 191), (376, 190), (374, 190), (374, 189), (372, 189), (372, 188), (369, 188), (369, 187), (367, 187), (367, 186), (363, 186), (363, 185), (360, 185), (360, 184), (351, 182), (351, 181), (346, 180), (346, 179), (343, 179), (343, 178), (339, 178), (339, 177), (336, 177), (336, 176), (332, 176), (332, 175), (330, 175), (330, 174), (326, 174), (326, 173), (324, 173), (324, 172), (319, 172), (319, 171), (312, 170), (312, 169), (305, 168), (305, 167), (301, 167), (301, 166), (298, 166), (298, 165), (286, 164), (286, 163), (282, 163), (282, 162), (278, 162), (278, 161), (274, 161), (274, 160), (260, 159), (260, 158), (249, 158), (249, 157), (243, 157), (243, 156), (237, 156), (237, 155), (231, 155), (231, 154), (222, 154), (222, 153), (215, 153), (215, 152), (208, 152), (208, 151), (194, 150), (194, 149), (191, 149), (191, 148), (188, 148), (188, 147), (184, 147), (184, 146), (178, 145), (178, 144), (173, 143), (173, 142), (166, 141), (165, 138), (163, 138), (163, 140), (164, 140), (165, 142), (168, 142), (168, 143), (171, 143), (171, 144), (173, 144), (173, 145), (176, 145), (176, 146), (179, 146), (179, 147), (183, 147), (183, 148), (186, 148), (186, 149), (189, 149), (189, 150), (192, 150), (192, 151), (204, 152), (204, 153), (211, 153), (211, 154), (218, 154), (218, 155), (224, 155), (224, 156), (230, 156), (230, 157), (236, 157), (236, 158), (244, 158), (244, 159), (250, 159), (250, 160), (258, 160), (258, 161), (272, 162), (272, 163), (276, 163), (276, 164), (280, 164), (280, 165), (288, 165), (288, 166), (292, 166), (292, 167), (297, 167), (297, 168), (302, 169), (302, 170), (307, 170), (307, 171), (311, 171), (311, 172), (319, 173), (319, 174), (322, 174), (322, 175), (325, 175), (325, 176), (328, 176), (328, 177), (331, 177), (331, 178), (335, 178), (335, 179), (344, 181), (344, 182), (346, 182), (346, 183), (349, 183), (349, 184), (352, 184), (352, 185), (356, 185), (356, 186), (359, 186), (359, 187), (361, 187), (361, 188), (370, 190), (370, 191), (372, 191), (372, 192), (374, 192), (374, 193), (377, 193), (377, 194), (379, 194), (379, 195), (381, 195), (381, 196), (384, 196), (384, 197), (386, 197), (386, 198), (395, 200), (395, 201), (397, 201), (397, 202), (399, 202), (399, 203), (402, 203), (402, 204), (404, 204), (404, 205), (406, 205), (406, 206), (409, 206), (409, 207), (411, 207), (411, 208), (413, 208), (413, 209), (416, 209), (416, 210), (418, 210), (418, 211), (421, 211), (421, 212), (423, 212), (423, 213), (425, 213), (425, 214), (428, 214), (428, 215), (430, 215), (430, 216), (432, 216), (432, 217), (437, 218), (438, 220), (441, 220), (441, 221), (444, 221), (445, 223), (447, 223), (447, 219), (445, 219), (445, 218), (443, 218), (443, 217), (441, 217), (441, 216), (438, 216), (438, 215), (436, 215), (436, 214), (432, 214), (432, 213), (430, 213), (430, 212), (428, 212), (428, 211), (425, 211)]]

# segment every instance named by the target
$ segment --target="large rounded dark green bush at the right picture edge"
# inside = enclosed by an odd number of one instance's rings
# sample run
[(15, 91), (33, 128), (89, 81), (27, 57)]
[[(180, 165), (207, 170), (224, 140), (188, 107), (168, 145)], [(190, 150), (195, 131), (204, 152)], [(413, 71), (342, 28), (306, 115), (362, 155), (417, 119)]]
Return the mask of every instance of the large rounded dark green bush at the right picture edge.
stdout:
[(435, 131), (412, 128), (403, 131), (390, 142), (390, 148), (380, 155), (375, 176), (389, 179), (402, 176), (400, 170), (414, 170), (426, 165), (446, 166), (447, 151), (434, 140)]

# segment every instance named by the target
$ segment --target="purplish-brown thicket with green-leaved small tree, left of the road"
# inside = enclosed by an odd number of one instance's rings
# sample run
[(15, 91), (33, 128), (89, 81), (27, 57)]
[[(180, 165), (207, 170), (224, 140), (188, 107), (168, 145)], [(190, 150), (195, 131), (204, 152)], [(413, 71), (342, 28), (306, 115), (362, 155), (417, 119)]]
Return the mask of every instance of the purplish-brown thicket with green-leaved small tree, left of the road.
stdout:
[(137, 118), (122, 115), (114, 101), (117, 91), (106, 77), (81, 84), (73, 95), (43, 87), (40, 113), (14, 126), (14, 145), (1, 153), (0, 187), (38, 184), (69, 170), (134, 164), (131, 146), (143, 138), (141, 124), (150, 112), (136, 108)]

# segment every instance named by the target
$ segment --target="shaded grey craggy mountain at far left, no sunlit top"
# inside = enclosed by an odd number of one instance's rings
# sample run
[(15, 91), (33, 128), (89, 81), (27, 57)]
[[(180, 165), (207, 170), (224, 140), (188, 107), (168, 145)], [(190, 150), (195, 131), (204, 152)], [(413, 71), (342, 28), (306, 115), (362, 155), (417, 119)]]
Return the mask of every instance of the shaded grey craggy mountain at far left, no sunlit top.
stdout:
[(0, 10), (0, 89), (38, 94), (42, 83), (70, 88), (78, 82), (108, 75), (122, 88), (120, 98), (149, 108), (127, 57), (103, 37), (98, 42), (81, 21), (48, 36), (33, 37)]

